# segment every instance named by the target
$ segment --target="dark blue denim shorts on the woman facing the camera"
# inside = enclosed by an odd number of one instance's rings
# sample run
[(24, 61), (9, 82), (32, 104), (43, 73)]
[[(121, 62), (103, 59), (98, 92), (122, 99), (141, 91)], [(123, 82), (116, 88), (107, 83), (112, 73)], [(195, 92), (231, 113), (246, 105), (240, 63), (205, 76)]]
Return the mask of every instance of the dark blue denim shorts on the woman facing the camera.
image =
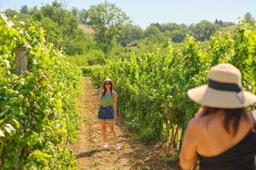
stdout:
[(99, 106), (97, 118), (101, 120), (113, 120), (114, 119), (114, 109), (113, 105), (109, 106)]

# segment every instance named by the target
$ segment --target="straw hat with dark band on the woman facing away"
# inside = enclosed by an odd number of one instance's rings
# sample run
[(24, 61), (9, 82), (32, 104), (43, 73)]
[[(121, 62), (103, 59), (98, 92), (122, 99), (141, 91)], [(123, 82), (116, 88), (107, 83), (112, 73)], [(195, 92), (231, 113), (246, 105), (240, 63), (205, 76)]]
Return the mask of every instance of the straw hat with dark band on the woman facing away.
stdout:
[(187, 91), (188, 97), (205, 106), (217, 108), (243, 108), (256, 103), (256, 96), (242, 89), (239, 69), (231, 64), (211, 67), (209, 82)]

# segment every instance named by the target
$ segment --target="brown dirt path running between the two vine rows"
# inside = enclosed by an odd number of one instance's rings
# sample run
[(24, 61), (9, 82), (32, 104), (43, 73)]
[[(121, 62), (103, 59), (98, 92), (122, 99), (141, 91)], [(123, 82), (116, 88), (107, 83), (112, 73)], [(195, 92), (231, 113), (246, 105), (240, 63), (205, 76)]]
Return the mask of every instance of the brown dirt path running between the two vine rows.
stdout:
[(75, 153), (81, 170), (167, 170), (163, 156), (156, 146), (146, 145), (134, 140), (133, 134), (125, 126), (122, 117), (116, 121), (116, 130), (122, 150), (115, 151), (115, 144), (108, 128), (109, 149), (103, 149), (100, 125), (97, 122), (98, 90), (92, 85), (90, 78), (83, 82), (81, 102), (81, 139), (70, 146)]

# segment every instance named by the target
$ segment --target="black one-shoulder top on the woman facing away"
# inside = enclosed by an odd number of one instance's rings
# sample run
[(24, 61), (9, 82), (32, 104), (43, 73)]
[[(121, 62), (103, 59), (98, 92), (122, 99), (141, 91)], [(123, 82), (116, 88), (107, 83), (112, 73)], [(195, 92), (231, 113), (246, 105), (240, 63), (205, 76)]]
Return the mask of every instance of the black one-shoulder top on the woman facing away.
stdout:
[(200, 170), (256, 170), (256, 133), (247, 136), (226, 152), (216, 156), (198, 155)]

